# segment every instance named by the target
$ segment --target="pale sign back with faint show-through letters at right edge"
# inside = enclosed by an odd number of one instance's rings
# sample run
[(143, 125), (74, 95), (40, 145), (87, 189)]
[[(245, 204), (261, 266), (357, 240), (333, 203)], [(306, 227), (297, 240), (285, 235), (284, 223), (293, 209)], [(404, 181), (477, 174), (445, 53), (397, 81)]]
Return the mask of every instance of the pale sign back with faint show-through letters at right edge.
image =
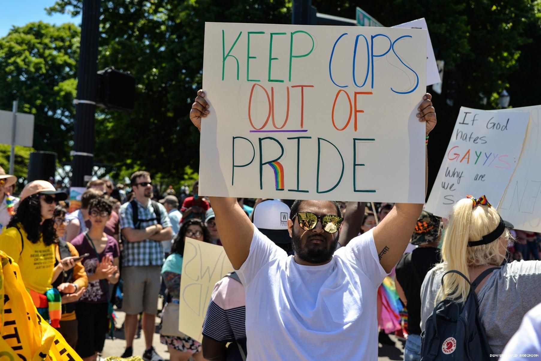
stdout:
[(498, 212), (516, 229), (541, 232), (541, 105), (514, 108), (530, 116), (520, 161)]

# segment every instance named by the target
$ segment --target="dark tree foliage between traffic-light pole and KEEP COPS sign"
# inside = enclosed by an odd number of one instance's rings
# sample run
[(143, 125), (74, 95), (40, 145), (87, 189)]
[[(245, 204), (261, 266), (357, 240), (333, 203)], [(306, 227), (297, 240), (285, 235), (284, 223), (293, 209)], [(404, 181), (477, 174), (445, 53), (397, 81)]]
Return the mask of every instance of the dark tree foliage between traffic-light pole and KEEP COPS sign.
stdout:
[[(81, 1), (49, 11), (78, 14)], [(205, 22), (291, 23), (286, 0), (102, 1), (100, 69), (136, 79), (131, 113), (99, 110), (96, 161), (180, 179), (199, 168), (199, 132), (188, 113), (201, 88)]]

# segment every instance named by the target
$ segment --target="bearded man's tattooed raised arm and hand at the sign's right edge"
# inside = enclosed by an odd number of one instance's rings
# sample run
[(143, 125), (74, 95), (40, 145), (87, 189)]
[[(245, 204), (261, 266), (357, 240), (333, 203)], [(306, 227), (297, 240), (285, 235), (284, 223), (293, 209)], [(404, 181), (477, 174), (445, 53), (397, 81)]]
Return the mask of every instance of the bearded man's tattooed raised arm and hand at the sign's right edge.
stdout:
[[(431, 99), (432, 95), (426, 93), (417, 114), (419, 122), (426, 124), (426, 136), (436, 126), (436, 111)], [(427, 183), (428, 162), (425, 148), (425, 194)], [(404, 254), (422, 210), (423, 204), (397, 203), (385, 219), (374, 228), (374, 243), (378, 251), (379, 263), (386, 272), (391, 272)]]

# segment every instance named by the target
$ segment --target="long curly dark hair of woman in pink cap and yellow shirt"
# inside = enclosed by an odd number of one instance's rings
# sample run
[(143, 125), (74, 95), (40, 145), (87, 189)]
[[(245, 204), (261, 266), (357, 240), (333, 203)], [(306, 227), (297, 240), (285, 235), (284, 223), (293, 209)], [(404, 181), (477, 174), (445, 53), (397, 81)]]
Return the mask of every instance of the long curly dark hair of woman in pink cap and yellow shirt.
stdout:
[(18, 227), (18, 224), (23, 226), (27, 232), (27, 238), (32, 243), (38, 243), (39, 238), (43, 236), (43, 243), (50, 246), (57, 242), (55, 222), (51, 219), (45, 219), (41, 223), (41, 202), (39, 202), (39, 193), (24, 198), (15, 215), (9, 221), (8, 227)]

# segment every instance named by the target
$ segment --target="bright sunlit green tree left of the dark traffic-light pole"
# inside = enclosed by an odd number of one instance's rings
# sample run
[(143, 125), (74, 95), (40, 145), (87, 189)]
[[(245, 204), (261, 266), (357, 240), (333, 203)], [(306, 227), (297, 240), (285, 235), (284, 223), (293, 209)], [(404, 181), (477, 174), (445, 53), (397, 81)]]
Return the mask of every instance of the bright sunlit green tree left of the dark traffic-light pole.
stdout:
[[(0, 109), (35, 116), (34, 148), (69, 156), (73, 139), (80, 30), (43, 22), (14, 26), (0, 38)], [(26, 176), (26, 172), (24, 172)]]

